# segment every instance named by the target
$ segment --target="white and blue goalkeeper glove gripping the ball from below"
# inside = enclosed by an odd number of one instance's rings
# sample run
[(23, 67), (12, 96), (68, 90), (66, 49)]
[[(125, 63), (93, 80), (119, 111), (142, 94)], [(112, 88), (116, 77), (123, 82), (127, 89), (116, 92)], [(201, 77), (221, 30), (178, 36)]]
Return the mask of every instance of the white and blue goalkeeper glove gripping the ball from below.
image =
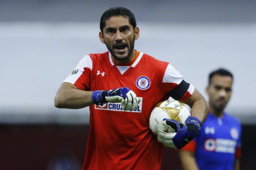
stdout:
[(176, 120), (163, 119), (163, 125), (172, 127), (175, 133), (157, 132), (158, 142), (162, 142), (166, 147), (181, 149), (194, 139), (201, 128), (201, 122), (198, 118), (189, 116), (185, 124)]

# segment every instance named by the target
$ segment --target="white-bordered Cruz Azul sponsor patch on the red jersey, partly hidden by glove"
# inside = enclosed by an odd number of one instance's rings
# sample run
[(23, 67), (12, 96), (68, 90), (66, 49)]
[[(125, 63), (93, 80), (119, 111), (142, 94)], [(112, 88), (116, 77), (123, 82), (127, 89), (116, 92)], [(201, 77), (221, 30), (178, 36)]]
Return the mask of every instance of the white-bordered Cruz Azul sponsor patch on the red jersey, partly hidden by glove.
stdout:
[[(133, 111), (128, 111), (128, 112), (135, 112), (135, 113), (141, 113), (142, 111), (142, 97), (138, 97), (140, 99), (140, 103), (138, 105), (138, 108)], [(105, 103), (103, 105), (95, 105), (95, 109), (100, 109), (100, 110), (108, 110), (108, 111), (123, 111), (122, 110), (122, 105), (121, 103)]]

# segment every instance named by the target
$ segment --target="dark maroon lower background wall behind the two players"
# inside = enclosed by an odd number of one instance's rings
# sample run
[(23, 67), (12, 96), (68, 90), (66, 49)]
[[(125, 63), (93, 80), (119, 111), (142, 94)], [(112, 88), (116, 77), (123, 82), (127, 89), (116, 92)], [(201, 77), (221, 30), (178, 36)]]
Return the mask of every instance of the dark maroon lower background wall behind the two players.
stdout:
[[(242, 130), (241, 170), (255, 170), (256, 126), (243, 125)], [(88, 131), (88, 125), (0, 125), (1, 169), (50, 170), (56, 162), (66, 168), (70, 162), (73, 168), (67, 170), (79, 170)], [(165, 147), (162, 170), (181, 169), (177, 151)]]

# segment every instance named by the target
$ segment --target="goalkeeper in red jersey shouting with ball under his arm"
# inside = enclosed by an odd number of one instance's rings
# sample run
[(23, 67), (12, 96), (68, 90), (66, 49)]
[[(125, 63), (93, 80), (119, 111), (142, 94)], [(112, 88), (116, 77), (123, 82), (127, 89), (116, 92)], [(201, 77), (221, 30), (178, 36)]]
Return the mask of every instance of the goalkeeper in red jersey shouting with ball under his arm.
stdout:
[[(105, 11), (99, 39), (108, 51), (82, 58), (55, 96), (57, 108), (90, 106), (83, 170), (160, 170), (163, 144), (183, 147), (207, 117), (207, 101), (172, 65), (134, 49), (139, 36), (130, 10), (114, 7)], [(149, 114), (169, 96), (188, 104), (192, 116), (186, 124), (163, 121), (176, 127), (176, 135), (159, 132), (154, 136)]]

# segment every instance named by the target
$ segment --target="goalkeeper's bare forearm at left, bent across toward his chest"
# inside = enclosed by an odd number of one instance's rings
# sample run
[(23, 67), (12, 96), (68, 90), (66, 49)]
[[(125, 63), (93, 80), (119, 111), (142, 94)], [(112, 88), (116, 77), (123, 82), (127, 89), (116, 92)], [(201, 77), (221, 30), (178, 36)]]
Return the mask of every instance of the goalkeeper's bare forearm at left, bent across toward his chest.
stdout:
[(93, 104), (91, 95), (91, 91), (82, 91), (66, 83), (58, 90), (54, 104), (56, 108), (84, 108)]

